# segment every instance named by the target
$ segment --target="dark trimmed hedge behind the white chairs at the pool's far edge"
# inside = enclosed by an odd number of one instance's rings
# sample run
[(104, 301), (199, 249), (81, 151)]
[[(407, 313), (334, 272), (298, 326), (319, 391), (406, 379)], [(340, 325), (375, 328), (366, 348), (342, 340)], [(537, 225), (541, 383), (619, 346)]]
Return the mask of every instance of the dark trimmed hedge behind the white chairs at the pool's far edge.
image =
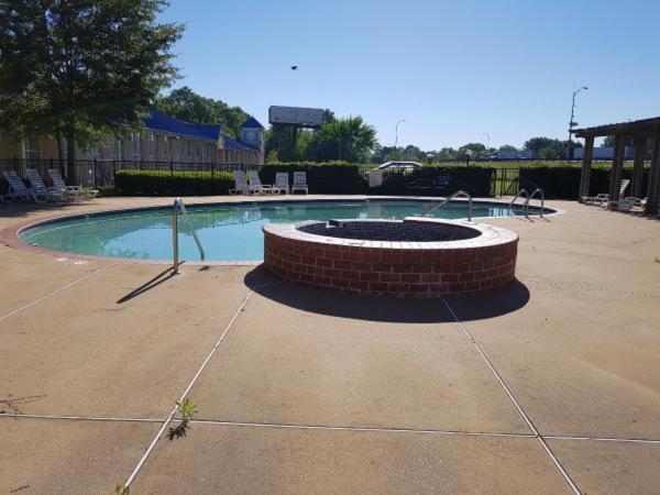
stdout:
[(288, 172), (293, 180), (294, 172), (307, 173), (310, 194), (319, 195), (359, 195), (366, 193), (366, 176), (360, 173), (358, 165), (346, 162), (289, 162), (266, 164), (260, 170), (264, 184), (275, 184), (276, 172)]

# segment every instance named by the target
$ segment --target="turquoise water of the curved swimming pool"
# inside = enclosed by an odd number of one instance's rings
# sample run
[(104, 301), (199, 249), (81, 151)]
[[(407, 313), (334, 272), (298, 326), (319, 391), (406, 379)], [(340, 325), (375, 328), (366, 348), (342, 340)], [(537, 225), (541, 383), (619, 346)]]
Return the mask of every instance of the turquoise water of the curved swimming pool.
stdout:
[[(330, 219), (403, 219), (425, 213), (437, 201), (323, 200), (268, 201), (188, 207), (207, 261), (260, 261), (264, 257), (262, 227)], [(536, 212), (530, 207), (530, 213)], [(520, 215), (520, 208), (513, 213)], [(474, 202), (473, 217), (503, 217), (507, 206)], [(451, 202), (432, 217), (468, 217), (468, 204)], [(41, 223), (19, 238), (48, 250), (81, 255), (172, 260), (172, 208), (90, 215)], [(179, 222), (179, 256), (195, 261), (199, 253), (185, 222)]]

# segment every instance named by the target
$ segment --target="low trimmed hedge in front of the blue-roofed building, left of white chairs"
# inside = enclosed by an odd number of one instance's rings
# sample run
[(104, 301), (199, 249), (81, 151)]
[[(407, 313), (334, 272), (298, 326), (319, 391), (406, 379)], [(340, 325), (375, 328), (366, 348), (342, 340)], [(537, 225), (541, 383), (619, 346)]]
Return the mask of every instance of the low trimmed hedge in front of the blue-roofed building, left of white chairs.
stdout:
[(124, 196), (226, 195), (233, 177), (227, 172), (118, 170), (114, 188)]

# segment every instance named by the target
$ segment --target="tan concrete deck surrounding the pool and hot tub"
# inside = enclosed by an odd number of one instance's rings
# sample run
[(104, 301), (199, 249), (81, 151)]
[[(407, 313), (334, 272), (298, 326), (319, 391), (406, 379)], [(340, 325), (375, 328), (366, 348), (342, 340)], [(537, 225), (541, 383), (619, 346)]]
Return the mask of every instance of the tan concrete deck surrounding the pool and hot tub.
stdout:
[[(0, 206), (0, 230), (170, 204)], [(488, 220), (516, 283), (447, 305), (0, 245), (0, 492), (112, 493), (189, 386), (132, 494), (657, 491), (660, 221), (548, 206)]]

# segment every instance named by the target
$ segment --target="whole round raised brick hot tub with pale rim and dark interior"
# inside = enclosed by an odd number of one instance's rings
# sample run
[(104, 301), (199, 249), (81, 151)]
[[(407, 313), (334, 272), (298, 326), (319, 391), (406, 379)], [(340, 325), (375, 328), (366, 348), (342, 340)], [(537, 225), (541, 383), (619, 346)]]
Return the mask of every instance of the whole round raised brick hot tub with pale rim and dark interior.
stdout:
[(442, 296), (514, 279), (518, 235), (431, 218), (266, 224), (264, 266), (292, 282), (361, 294)]

